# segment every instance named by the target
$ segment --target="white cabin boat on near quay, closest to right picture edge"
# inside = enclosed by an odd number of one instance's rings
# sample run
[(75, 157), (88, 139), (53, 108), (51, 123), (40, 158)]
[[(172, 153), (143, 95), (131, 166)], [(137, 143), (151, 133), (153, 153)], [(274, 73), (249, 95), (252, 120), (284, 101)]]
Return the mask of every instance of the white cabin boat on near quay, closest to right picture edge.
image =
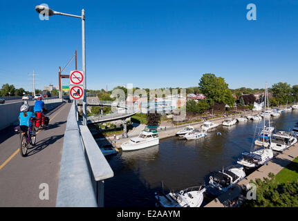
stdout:
[(274, 151), (282, 152), (296, 143), (297, 138), (290, 135), (290, 132), (279, 131), (271, 136), (270, 147)]

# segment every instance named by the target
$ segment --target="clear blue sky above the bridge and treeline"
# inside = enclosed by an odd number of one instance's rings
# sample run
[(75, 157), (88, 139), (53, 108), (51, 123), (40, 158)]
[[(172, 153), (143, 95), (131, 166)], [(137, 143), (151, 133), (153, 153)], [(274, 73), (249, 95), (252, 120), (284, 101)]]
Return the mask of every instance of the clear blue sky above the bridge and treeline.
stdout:
[[(204, 73), (230, 88), (298, 84), (298, 1), (0, 1), (0, 86), (57, 86), (77, 50), (81, 21), (55, 15), (39, 20), (35, 6), (86, 11), (86, 80), (90, 89), (132, 83), (140, 88), (198, 86)], [(246, 6), (257, 6), (248, 21)], [(7, 9), (7, 10), (3, 10)], [(74, 69), (74, 63), (67, 71)], [(64, 84), (68, 84), (64, 80)]]

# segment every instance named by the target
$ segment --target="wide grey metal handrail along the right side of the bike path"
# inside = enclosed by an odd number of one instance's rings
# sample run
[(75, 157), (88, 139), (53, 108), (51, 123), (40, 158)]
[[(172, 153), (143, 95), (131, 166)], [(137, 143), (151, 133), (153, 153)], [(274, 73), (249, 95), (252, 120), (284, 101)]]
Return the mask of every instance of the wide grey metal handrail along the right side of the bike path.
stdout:
[(114, 173), (87, 126), (77, 123), (75, 102), (68, 113), (56, 206), (104, 206), (104, 181)]

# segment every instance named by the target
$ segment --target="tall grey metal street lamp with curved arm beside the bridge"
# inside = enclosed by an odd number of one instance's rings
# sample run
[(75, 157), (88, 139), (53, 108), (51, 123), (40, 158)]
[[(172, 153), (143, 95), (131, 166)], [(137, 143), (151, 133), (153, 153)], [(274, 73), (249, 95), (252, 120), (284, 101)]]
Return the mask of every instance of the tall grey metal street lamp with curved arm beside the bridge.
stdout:
[(85, 10), (82, 9), (82, 15), (70, 15), (62, 12), (56, 12), (46, 6), (36, 6), (35, 10), (41, 15), (64, 15), (68, 17), (75, 17), (82, 19), (82, 68), (85, 73), (85, 81), (84, 81), (84, 99), (83, 99), (83, 125), (87, 126), (87, 99), (86, 99), (86, 42), (85, 42)]

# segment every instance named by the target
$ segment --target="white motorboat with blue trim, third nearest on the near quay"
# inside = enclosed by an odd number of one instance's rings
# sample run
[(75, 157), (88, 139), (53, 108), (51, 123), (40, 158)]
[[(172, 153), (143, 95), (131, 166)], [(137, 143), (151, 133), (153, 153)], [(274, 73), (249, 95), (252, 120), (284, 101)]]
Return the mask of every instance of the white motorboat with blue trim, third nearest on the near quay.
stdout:
[(245, 166), (249, 169), (266, 164), (272, 160), (273, 151), (270, 148), (263, 148), (254, 152), (244, 152), (242, 157), (237, 160), (237, 164)]

